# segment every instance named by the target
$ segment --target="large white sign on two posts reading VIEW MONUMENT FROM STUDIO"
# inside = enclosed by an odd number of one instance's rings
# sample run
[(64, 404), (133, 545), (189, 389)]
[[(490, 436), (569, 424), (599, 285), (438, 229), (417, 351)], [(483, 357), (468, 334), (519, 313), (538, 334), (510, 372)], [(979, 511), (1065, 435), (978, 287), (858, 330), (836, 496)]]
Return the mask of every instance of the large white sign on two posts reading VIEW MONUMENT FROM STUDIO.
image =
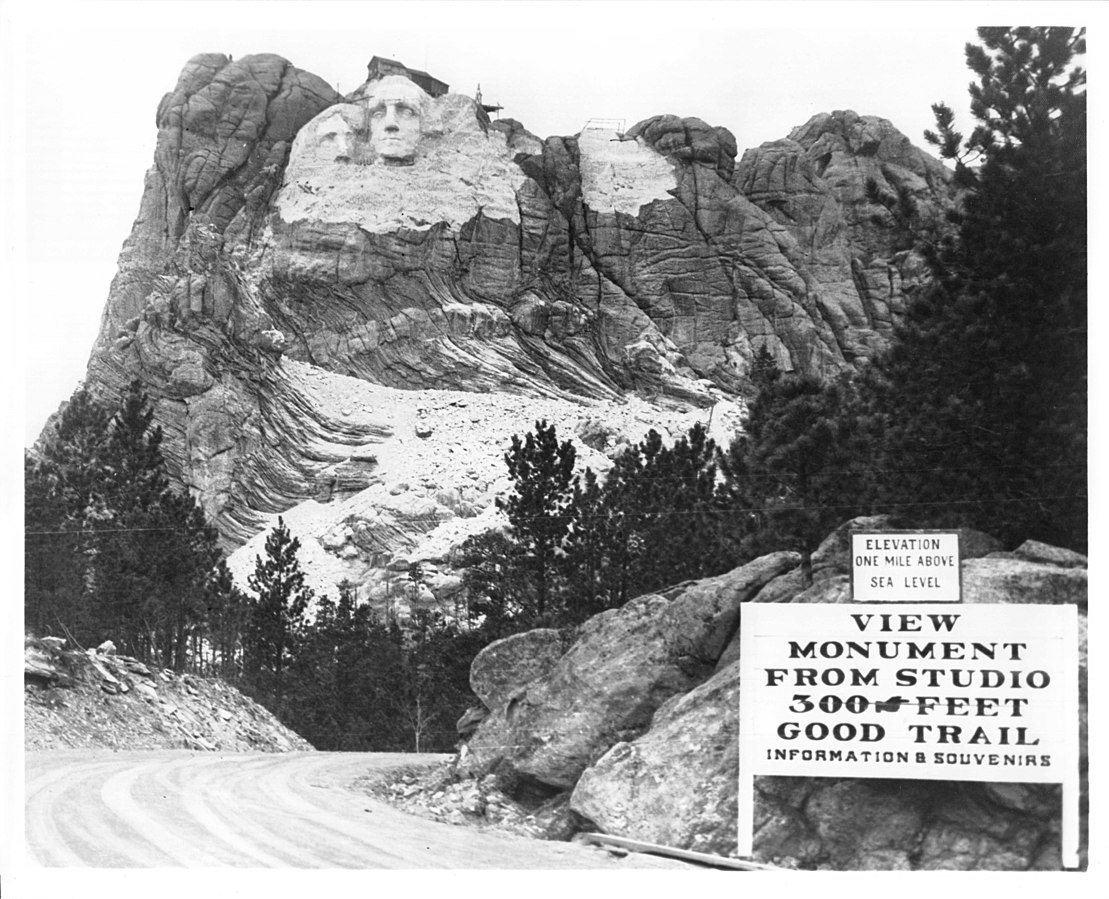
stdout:
[(742, 616), (741, 857), (756, 774), (897, 777), (1062, 783), (1077, 867), (1076, 606), (746, 603)]

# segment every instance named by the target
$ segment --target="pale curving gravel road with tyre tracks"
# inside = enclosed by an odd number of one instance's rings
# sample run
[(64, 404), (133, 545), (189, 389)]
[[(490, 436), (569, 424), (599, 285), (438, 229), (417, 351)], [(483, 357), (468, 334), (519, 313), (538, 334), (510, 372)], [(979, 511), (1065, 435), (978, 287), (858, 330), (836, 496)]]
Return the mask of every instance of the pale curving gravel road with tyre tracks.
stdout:
[(688, 868), (417, 818), (353, 786), (445, 756), (29, 752), (27, 845), (47, 867)]

